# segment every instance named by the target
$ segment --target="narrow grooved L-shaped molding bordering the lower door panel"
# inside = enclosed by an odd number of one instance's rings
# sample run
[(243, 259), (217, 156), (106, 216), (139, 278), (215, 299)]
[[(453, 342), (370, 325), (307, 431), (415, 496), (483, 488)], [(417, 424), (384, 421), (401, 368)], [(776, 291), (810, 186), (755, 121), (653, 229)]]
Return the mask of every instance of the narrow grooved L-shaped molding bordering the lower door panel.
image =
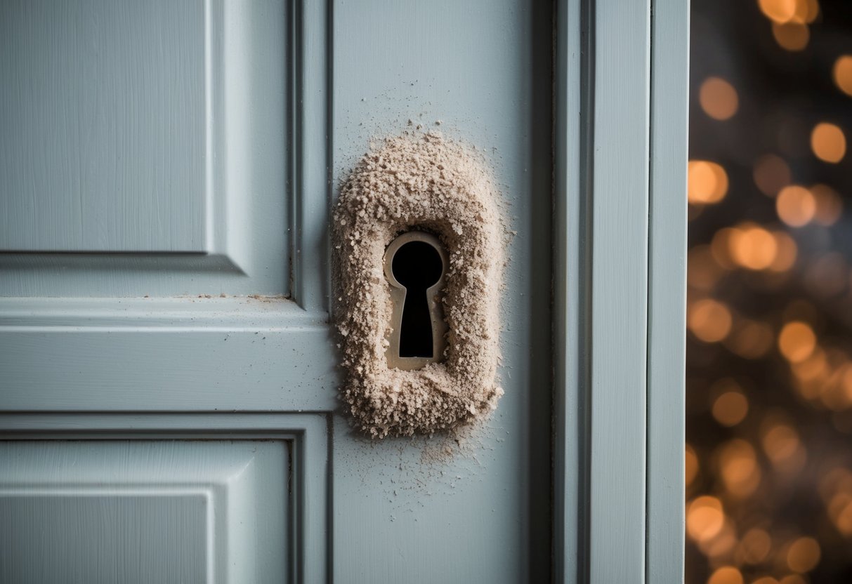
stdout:
[(291, 581), (327, 582), (331, 570), (331, 415), (0, 414), (0, 440), (279, 439), (291, 450)]

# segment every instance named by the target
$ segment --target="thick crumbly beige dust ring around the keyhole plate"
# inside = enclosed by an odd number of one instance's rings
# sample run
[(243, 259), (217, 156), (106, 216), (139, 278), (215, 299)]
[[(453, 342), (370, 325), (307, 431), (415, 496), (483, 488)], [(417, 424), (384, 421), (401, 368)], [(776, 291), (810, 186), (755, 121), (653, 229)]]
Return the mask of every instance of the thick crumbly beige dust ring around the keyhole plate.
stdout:
[[(503, 245), (497, 192), (475, 152), (440, 134), (401, 135), (360, 160), (334, 215), (337, 329), (348, 375), (341, 397), (372, 436), (430, 434), (488, 415), (503, 395), (498, 288)], [(441, 363), (389, 369), (392, 304), (383, 255), (400, 232), (435, 233), (450, 265)]]

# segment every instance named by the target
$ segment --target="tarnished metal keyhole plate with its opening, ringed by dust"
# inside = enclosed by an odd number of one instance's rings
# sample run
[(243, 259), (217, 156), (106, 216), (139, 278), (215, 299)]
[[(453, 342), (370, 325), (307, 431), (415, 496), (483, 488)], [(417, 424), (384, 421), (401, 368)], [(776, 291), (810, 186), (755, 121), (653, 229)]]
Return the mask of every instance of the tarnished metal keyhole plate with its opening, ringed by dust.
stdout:
[(394, 239), (384, 255), (390, 283), (389, 367), (421, 369), (440, 361), (446, 347), (446, 321), (440, 293), (447, 256), (440, 239), (427, 232), (406, 232)]

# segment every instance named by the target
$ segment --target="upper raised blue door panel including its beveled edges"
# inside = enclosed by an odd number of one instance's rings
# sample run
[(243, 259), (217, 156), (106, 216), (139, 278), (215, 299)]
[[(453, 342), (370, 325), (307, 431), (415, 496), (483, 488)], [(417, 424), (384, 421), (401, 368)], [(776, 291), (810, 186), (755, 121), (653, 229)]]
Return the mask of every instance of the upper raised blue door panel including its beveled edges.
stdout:
[(287, 295), (287, 3), (51, 7), (0, 3), (0, 295)]

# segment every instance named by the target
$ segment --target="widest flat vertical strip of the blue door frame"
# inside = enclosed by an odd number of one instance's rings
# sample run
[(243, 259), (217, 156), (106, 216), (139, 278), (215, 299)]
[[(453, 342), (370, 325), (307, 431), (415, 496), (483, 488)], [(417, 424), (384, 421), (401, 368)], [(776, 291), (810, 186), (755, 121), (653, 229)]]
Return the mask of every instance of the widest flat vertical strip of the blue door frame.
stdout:
[(644, 581), (649, 0), (595, 3), (590, 581)]

